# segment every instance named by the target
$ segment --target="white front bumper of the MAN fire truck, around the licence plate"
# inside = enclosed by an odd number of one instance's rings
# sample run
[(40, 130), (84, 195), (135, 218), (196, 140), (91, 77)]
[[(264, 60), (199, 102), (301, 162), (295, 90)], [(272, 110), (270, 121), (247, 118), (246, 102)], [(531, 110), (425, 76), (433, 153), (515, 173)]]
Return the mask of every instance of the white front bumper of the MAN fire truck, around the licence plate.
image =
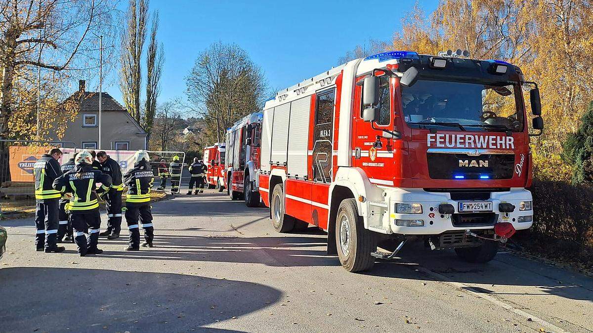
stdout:
[[(511, 188), (504, 192), (491, 192), (490, 198), (476, 201), (491, 201), (492, 212), (463, 213), (458, 212), (460, 202), (472, 200), (453, 200), (449, 192), (428, 192), (422, 188), (394, 188), (385, 190), (385, 201), (388, 202), (389, 230), (391, 233), (404, 235), (438, 235), (446, 231), (466, 229), (493, 229), (498, 222), (510, 222), (517, 230), (529, 229), (533, 224), (533, 210), (519, 211), (521, 201), (531, 201), (531, 192), (525, 188)], [(396, 213), (396, 203), (420, 203), (422, 213)], [(514, 212), (502, 213), (500, 203), (510, 203), (515, 206)], [(455, 208), (454, 214), (439, 213), (440, 204), (451, 204)], [(529, 222), (519, 222), (520, 216), (531, 216)], [(396, 220), (423, 220), (423, 226), (398, 226)], [(385, 221), (384, 221), (385, 222)]]

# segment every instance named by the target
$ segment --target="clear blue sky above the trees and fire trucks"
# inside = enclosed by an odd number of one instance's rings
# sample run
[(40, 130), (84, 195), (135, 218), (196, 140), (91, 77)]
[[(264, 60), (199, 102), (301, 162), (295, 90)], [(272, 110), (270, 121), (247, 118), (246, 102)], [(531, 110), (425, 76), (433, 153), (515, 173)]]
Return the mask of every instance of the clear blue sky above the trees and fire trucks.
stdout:
[[(125, 9), (127, 1), (122, 2)], [(263, 69), (270, 87), (281, 89), (335, 66), (356, 44), (390, 40), (414, 4), (415, 0), (152, 0), (151, 11), (158, 9), (161, 17), (158, 38), (166, 57), (159, 103), (184, 97), (185, 76), (197, 55), (215, 41), (243, 47)], [(429, 13), (437, 1), (420, 5)], [(110, 73), (104, 91), (122, 101), (116, 78)]]

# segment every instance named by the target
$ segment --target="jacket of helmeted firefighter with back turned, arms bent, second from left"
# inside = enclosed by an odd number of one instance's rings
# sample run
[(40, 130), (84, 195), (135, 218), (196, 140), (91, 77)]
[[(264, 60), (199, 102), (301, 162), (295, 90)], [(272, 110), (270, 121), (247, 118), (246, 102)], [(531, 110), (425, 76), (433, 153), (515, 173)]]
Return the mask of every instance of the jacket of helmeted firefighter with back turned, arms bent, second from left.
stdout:
[[(95, 190), (98, 182), (101, 183), (101, 187)], [(97, 193), (109, 190), (110, 186), (111, 177), (88, 164), (76, 165), (71, 171), (53, 181), (53, 188), (62, 193), (72, 194), (68, 203), (71, 212), (98, 209)]]

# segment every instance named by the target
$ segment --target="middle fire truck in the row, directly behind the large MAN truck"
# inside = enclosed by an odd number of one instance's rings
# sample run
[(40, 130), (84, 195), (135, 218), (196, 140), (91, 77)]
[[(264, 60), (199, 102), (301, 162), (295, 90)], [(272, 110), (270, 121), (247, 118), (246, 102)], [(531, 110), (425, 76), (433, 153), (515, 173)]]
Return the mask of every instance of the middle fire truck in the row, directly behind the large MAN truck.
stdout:
[(227, 130), (227, 193), (243, 197), (247, 207), (260, 204), (259, 178), (262, 113), (252, 113)]

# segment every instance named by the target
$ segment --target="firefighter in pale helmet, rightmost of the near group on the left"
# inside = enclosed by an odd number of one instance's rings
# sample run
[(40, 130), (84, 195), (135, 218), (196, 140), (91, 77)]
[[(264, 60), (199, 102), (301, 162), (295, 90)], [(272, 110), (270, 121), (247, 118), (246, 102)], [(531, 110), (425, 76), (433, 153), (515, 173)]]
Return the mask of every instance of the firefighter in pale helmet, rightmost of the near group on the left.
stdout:
[(138, 221), (144, 229), (144, 244), (152, 248), (154, 228), (152, 227), (152, 213), (150, 206), (150, 191), (154, 174), (150, 166), (150, 158), (145, 151), (138, 151), (134, 156), (134, 168), (123, 175), (123, 182), (127, 186), (126, 223), (130, 234), (130, 245), (126, 251), (139, 251), (140, 230)]

